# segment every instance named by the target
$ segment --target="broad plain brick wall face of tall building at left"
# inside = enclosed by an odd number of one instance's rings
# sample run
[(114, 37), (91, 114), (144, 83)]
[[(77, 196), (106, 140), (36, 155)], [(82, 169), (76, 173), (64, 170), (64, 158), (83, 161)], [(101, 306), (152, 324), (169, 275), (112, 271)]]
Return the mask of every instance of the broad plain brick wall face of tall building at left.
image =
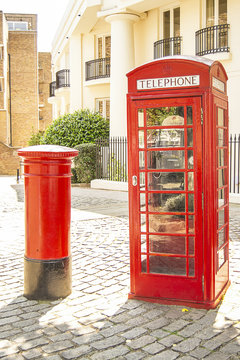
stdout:
[(11, 31), (12, 145), (23, 147), (38, 131), (37, 32)]

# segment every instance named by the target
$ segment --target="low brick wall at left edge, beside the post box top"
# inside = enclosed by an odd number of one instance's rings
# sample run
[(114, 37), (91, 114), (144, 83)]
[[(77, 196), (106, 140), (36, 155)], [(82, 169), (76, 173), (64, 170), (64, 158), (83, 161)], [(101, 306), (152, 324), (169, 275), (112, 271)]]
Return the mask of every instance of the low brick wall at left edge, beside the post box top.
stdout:
[(20, 168), (17, 148), (11, 148), (0, 142), (0, 175), (16, 175)]

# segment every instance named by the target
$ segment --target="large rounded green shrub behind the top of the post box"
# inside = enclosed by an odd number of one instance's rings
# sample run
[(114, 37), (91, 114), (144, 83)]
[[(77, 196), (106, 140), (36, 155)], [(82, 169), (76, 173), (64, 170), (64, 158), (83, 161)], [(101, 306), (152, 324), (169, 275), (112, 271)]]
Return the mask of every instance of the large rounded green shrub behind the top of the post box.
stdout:
[(88, 109), (75, 111), (56, 119), (45, 131), (41, 144), (75, 147), (94, 143), (97, 138), (109, 136), (109, 121)]

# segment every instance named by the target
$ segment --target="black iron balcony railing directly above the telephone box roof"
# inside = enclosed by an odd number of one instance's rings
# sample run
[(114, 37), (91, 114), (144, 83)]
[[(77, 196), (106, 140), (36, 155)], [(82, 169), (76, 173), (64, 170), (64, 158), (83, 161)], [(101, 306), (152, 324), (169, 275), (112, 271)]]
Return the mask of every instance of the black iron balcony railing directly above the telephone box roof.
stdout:
[(164, 56), (181, 55), (181, 36), (158, 40), (154, 43), (154, 59)]

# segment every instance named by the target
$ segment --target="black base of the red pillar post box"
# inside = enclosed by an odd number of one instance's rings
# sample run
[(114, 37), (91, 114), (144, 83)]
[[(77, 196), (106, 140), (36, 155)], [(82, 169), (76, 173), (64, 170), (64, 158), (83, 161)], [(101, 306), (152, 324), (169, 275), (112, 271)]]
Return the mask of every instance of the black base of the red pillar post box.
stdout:
[(72, 291), (71, 257), (36, 260), (24, 257), (24, 296), (31, 300), (56, 300)]

